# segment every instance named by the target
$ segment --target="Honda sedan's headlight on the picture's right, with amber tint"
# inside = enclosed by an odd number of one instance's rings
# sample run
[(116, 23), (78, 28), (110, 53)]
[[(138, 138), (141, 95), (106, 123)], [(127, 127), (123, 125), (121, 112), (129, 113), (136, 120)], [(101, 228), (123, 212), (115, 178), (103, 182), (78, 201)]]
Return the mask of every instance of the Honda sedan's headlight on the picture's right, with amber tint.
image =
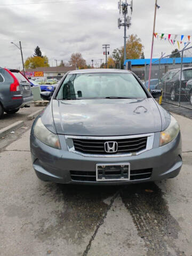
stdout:
[(171, 115), (170, 125), (161, 132), (159, 146), (170, 143), (175, 137), (177, 137), (179, 129), (179, 123)]

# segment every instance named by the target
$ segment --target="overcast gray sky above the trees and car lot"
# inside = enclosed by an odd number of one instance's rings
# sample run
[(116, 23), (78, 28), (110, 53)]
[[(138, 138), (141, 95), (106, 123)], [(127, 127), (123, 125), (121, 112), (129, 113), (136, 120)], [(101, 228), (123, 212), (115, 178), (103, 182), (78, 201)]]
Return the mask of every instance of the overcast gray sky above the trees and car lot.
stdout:
[[(36, 3), (53, 1), (39, 0)], [(123, 45), (123, 27), (117, 27), (118, 0), (3, 6), (16, 3), (35, 1), (0, 0), (2, 67), (22, 66), (20, 51), (10, 42), (19, 44), (21, 41), (24, 59), (33, 55), (38, 45), (51, 66), (55, 66), (54, 59), (58, 63), (61, 59), (68, 61), (73, 52), (81, 52), (87, 64), (91, 64), (91, 59), (100, 63), (99, 59), (105, 57), (102, 44), (110, 44), (110, 53)], [(132, 26), (127, 30), (127, 34), (137, 34), (141, 38), (146, 58), (150, 58), (154, 3), (155, 0), (133, 0)], [(156, 32), (192, 35), (191, 0), (158, 0), (158, 5), (161, 7), (157, 10)], [(169, 54), (172, 50), (169, 42), (155, 40), (154, 57), (161, 56), (161, 52)]]

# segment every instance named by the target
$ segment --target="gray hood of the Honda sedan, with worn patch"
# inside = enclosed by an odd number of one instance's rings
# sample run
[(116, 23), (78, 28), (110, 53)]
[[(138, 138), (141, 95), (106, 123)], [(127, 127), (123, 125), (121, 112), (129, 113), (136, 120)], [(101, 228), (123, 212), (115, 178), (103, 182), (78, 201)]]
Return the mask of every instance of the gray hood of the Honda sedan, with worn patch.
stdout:
[(58, 134), (121, 136), (162, 130), (161, 114), (153, 98), (52, 100)]

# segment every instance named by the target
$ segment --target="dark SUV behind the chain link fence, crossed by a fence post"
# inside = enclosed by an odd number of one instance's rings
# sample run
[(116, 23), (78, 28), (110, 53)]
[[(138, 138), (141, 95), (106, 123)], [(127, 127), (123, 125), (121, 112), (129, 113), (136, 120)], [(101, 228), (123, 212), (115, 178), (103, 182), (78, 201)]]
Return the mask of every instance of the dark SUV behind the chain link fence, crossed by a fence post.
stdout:
[[(172, 101), (179, 98), (180, 74), (180, 68), (171, 69), (162, 76), (157, 87), (157, 89), (162, 89), (166, 97), (169, 97)], [(188, 95), (189, 91), (186, 90), (186, 83), (190, 79), (192, 79), (192, 67), (183, 68), (181, 75), (181, 99), (190, 98)]]

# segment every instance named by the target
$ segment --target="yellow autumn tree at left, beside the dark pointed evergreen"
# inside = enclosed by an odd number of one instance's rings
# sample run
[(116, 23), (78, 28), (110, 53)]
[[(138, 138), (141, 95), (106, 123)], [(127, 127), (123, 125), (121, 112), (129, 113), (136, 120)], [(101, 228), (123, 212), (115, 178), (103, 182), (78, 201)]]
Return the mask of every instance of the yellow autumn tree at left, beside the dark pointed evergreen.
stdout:
[(25, 61), (25, 68), (36, 68), (36, 67), (49, 67), (49, 60), (46, 56), (43, 57), (28, 57)]

